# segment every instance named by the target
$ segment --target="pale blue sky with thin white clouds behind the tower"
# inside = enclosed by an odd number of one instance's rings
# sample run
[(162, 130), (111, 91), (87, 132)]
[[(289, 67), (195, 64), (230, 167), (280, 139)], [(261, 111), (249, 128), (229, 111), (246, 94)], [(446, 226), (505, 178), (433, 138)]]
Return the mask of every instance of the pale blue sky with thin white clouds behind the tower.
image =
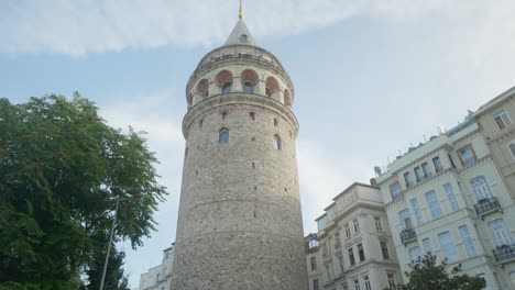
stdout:
[[(244, 20), (289, 72), (306, 233), (331, 198), (437, 125), (515, 86), (512, 0), (261, 0)], [(4, 0), (0, 97), (78, 90), (113, 126), (147, 132), (171, 192), (128, 252), (132, 287), (175, 239), (185, 86), (235, 24), (238, 1)]]

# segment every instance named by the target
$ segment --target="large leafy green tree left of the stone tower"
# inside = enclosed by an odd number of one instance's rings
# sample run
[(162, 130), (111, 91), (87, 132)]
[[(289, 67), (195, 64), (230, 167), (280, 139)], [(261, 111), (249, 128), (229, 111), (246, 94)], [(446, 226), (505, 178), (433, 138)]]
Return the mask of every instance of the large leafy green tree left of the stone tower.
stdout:
[(157, 160), (141, 133), (97, 110), (78, 93), (0, 99), (0, 289), (78, 289), (109, 241), (116, 204), (101, 189), (136, 192), (120, 203), (114, 242), (135, 248), (155, 230), (167, 194)]

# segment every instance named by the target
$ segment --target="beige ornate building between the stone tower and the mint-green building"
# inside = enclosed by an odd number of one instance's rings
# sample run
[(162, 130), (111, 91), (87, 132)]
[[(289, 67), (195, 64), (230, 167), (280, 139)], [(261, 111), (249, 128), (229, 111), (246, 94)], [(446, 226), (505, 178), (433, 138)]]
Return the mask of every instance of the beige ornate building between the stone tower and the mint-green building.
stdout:
[(320, 289), (376, 290), (402, 281), (377, 187), (353, 183), (333, 199), (317, 223)]

